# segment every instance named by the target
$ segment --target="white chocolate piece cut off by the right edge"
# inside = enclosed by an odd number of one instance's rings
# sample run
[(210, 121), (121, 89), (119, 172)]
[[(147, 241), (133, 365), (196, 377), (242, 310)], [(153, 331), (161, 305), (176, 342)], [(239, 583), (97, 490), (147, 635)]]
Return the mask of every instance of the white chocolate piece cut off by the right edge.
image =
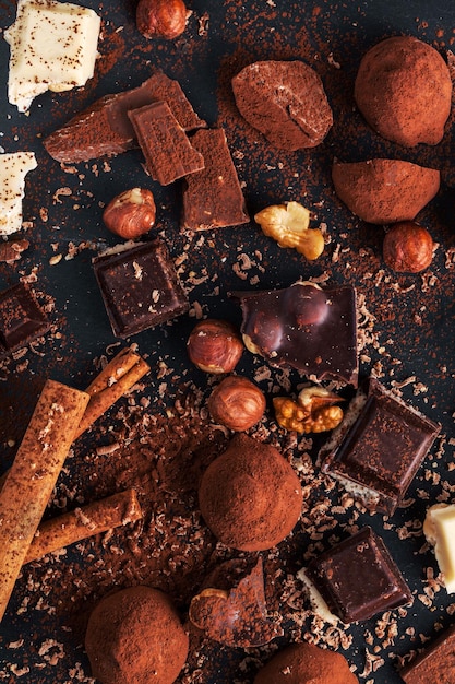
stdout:
[(455, 592), (455, 505), (435, 504), (427, 510), (423, 534), (434, 555), (447, 593)]

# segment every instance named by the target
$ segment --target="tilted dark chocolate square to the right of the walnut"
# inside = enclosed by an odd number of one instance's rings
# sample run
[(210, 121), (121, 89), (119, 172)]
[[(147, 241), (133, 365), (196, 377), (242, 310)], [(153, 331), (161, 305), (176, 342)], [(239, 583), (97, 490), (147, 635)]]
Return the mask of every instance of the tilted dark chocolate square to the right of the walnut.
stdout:
[(370, 378), (320, 451), (321, 469), (371, 510), (399, 506), (440, 426)]

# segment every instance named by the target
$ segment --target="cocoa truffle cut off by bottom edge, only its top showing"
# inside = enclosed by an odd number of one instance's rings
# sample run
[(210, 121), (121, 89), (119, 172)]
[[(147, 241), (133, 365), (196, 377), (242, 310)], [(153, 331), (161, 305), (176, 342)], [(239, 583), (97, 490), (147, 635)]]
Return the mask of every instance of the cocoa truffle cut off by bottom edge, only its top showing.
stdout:
[(311, 644), (279, 651), (255, 676), (254, 684), (358, 684), (340, 653)]

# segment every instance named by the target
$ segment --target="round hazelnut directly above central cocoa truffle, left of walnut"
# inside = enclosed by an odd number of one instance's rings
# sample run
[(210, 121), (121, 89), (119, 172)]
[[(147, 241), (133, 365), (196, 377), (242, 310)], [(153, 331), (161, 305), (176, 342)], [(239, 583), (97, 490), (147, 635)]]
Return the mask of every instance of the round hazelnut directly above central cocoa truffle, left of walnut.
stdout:
[(261, 420), (265, 397), (256, 385), (232, 375), (215, 387), (208, 398), (208, 411), (216, 423), (240, 433)]

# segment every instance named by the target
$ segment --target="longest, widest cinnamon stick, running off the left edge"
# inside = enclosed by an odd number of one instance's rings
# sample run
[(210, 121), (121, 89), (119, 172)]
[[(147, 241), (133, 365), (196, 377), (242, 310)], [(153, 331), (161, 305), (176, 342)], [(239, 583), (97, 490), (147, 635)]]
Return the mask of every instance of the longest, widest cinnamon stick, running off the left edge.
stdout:
[(88, 400), (46, 381), (0, 492), (0, 621)]

